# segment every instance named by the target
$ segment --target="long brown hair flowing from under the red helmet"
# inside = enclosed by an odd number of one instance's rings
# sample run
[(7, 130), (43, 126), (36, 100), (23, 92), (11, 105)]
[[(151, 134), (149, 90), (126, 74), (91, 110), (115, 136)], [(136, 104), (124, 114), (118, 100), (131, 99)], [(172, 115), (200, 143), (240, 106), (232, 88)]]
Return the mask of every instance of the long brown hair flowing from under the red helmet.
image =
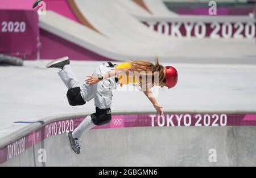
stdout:
[[(131, 59), (130, 59), (131, 60)], [(155, 85), (154, 75), (158, 76), (159, 83), (164, 81), (164, 71), (165, 67), (160, 65), (159, 58), (155, 57), (155, 63), (151, 63), (148, 61), (141, 61), (141, 60), (131, 60), (131, 69), (129, 71), (137, 72), (146, 74), (146, 77), (151, 77), (151, 82), (147, 83), (147, 87), (151, 88)], [(142, 76), (139, 76), (139, 85), (142, 86)]]

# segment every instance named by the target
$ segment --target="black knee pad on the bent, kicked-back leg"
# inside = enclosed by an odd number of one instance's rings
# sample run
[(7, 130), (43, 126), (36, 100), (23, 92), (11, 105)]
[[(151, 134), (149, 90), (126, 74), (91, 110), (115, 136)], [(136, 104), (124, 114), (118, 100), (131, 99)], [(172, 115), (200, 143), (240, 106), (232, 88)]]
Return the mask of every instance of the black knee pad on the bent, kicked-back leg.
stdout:
[(80, 87), (71, 88), (68, 90), (67, 98), (68, 98), (68, 103), (70, 105), (75, 106), (75, 105), (83, 105), (86, 103), (84, 99), (82, 99), (80, 91), (81, 91)]

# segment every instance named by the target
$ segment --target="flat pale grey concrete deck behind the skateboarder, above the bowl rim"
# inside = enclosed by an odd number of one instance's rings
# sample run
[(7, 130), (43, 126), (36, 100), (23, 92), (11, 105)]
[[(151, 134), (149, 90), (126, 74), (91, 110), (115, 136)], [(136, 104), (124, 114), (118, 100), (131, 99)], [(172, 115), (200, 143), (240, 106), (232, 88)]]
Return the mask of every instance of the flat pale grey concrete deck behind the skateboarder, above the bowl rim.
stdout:
[[(46, 69), (48, 61), (24, 61), (23, 67), (0, 66), (0, 138), (24, 124), (65, 113), (94, 112), (94, 102), (71, 107), (67, 88), (57, 75), (58, 69)], [(102, 62), (71, 61), (81, 83)], [(175, 66), (179, 82), (175, 88), (160, 88), (156, 96), (163, 110), (255, 110), (256, 65), (163, 63)], [(157, 92), (156, 92), (157, 94)], [(112, 111), (154, 111), (139, 91), (114, 91)]]

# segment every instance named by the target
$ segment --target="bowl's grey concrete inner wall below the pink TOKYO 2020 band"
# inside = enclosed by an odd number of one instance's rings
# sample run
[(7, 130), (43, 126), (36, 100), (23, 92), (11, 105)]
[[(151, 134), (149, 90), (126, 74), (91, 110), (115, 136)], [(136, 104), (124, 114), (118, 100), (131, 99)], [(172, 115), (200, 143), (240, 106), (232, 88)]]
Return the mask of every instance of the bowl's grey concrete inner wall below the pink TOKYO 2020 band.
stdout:
[[(81, 139), (80, 155), (61, 134), (3, 166), (255, 166), (255, 136), (254, 127), (242, 126), (90, 130)], [(41, 148), (46, 150), (43, 164), (37, 160)], [(210, 162), (214, 150), (216, 162)]]

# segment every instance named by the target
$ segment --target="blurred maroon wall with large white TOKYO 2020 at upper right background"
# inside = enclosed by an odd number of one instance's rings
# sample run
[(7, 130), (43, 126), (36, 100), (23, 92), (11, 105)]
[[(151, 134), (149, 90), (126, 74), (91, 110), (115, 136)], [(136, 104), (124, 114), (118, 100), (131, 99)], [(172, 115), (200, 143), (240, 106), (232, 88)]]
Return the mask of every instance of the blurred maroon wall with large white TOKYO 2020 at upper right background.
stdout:
[(150, 29), (171, 37), (199, 39), (254, 39), (255, 19), (249, 16), (192, 16), (140, 17)]

